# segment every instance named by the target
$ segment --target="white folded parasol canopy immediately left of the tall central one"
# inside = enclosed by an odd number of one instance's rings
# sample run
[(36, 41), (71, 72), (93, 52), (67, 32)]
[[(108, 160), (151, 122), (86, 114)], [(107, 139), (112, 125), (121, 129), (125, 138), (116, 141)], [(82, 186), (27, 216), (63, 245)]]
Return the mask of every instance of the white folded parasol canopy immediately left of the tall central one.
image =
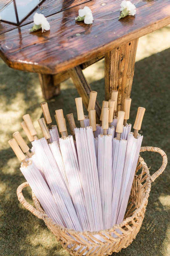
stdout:
[(59, 141), (61, 154), (66, 169), (69, 191), (77, 216), (80, 220), (83, 231), (89, 230), (89, 220), (85, 207), (85, 198), (80, 180), (80, 168), (74, 146), (73, 136), (68, 136), (65, 139), (60, 138)]

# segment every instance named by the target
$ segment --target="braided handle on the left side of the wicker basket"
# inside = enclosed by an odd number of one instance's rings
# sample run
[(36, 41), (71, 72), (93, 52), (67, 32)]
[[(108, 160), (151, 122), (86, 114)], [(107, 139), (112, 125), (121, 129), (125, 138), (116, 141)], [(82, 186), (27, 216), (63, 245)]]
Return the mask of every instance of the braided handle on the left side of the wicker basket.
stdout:
[(23, 196), (23, 193), (22, 193), (22, 190), (23, 188), (26, 188), (28, 187), (29, 184), (28, 182), (24, 182), (22, 183), (18, 188), (17, 188), (17, 196), (18, 196), (18, 200), (21, 204), (24, 205), (24, 207), (30, 211), (32, 214), (34, 214), (35, 216), (37, 216), (39, 219), (44, 219), (44, 216), (46, 216), (46, 214), (42, 213), (42, 212), (39, 212), (37, 209), (35, 209), (31, 204), (29, 204), (24, 196)]

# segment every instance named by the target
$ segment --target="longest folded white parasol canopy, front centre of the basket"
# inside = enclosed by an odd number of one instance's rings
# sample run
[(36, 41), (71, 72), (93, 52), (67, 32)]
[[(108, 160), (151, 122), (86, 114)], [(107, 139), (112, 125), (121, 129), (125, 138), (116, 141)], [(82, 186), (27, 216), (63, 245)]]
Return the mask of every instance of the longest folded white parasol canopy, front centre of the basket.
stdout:
[(103, 229), (102, 207), (92, 127), (75, 128), (81, 184), (85, 197), (90, 230)]

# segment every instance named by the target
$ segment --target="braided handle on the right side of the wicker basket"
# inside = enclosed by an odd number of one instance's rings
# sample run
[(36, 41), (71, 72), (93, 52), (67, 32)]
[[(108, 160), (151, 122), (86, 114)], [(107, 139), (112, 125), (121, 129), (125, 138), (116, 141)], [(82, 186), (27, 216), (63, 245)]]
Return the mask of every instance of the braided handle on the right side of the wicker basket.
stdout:
[(144, 152), (144, 151), (158, 152), (163, 157), (163, 161), (162, 161), (161, 167), (159, 168), (159, 170), (157, 172), (153, 173), (152, 176), (151, 176), (151, 180), (153, 182), (165, 170), (167, 162), (168, 162), (168, 159), (167, 159), (167, 156), (166, 156), (165, 152), (162, 149), (160, 149), (160, 148), (141, 147), (140, 148), (140, 152)]

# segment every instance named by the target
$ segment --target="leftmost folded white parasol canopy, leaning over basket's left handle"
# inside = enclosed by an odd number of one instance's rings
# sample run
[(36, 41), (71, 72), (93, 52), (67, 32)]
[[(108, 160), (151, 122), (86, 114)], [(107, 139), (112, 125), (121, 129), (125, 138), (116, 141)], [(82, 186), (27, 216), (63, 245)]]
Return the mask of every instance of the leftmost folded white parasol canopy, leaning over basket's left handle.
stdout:
[(52, 220), (57, 224), (66, 227), (52, 193), (35, 164), (30, 161), (27, 167), (21, 165), (20, 170), (28, 181), (31, 189), (34, 191), (39, 203), (42, 205), (48, 217), (52, 218)]

